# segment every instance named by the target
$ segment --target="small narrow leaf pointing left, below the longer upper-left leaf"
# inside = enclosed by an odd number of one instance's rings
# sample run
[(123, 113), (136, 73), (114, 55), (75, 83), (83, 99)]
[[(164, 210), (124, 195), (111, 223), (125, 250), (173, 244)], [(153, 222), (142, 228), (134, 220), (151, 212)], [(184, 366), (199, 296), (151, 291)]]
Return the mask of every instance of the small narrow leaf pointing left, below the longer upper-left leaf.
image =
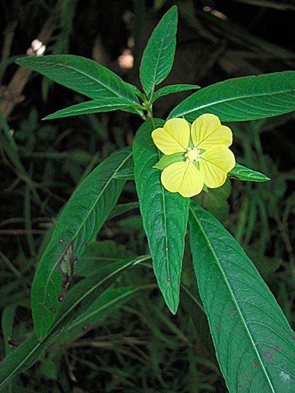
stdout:
[(58, 112), (53, 113), (42, 120), (58, 119), (58, 117), (76, 116), (76, 115), (86, 115), (87, 113), (96, 112), (110, 112), (110, 110), (125, 110), (126, 112), (143, 114), (142, 110), (136, 109), (135, 106), (140, 106), (135, 104), (134, 101), (130, 99), (110, 97), (106, 99), (94, 99), (93, 101), (87, 101), (83, 103), (78, 103), (77, 105), (69, 106)]

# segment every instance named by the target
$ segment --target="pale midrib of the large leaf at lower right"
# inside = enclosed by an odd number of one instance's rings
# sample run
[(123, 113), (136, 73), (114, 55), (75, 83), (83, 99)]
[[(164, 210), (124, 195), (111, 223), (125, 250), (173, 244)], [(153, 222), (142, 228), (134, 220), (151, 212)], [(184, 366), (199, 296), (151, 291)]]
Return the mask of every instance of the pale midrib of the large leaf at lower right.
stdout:
[(224, 270), (222, 269), (222, 267), (221, 267), (221, 265), (220, 265), (220, 263), (219, 263), (219, 259), (217, 258), (216, 253), (215, 253), (214, 250), (212, 249), (210, 240), (208, 239), (208, 236), (206, 235), (205, 231), (203, 230), (203, 226), (201, 225), (201, 222), (199, 221), (198, 217), (196, 217), (196, 214), (195, 214), (195, 212), (194, 212), (194, 210), (192, 209), (191, 206), (189, 206), (189, 209), (190, 209), (190, 211), (192, 212), (192, 215), (194, 216), (194, 219), (196, 220), (196, 223), (199, 225), (199, 228), (201, 229), (201, 233), (203, 234), (203, 237), (205, 238), (205, 241), (206, 241), (207, 244), (208, 244), (208, 247), (209, 247), (209, 249), (210, 249), (210, 251), (211, 251), (211, 253), (212, 253), (212, 256), (214, 257), (214, 260), (215, 260), (216, 263), (217, 263), (217, 266), (219, 267), (219, 271), (221, 272), (222, 277), (224, 278), (224, 282), (226, 283), (226, 287), (228, 287), (228, 291), (230, 292), (230, 296), (231, 296), (231, 298), (233, 299), (233, 302), (235, 303), (235, 306), (236, 306), (236, 308), (237, 308), (237, 312), (239, 313), (239, 317), (242, 319), (242, 322), (243, 322), (243, 324), (244, 324), (244, 328), (245, 328), (245, 330), (246, 330), (246, 333), (248, 334), (248, 337), (250, 338), (250, 341), (251, 341), (251, 343), (252, 343), (253, 349), (254, 349), (256, 355), (258, 356), (258, 359), (260, 360), (260, 365), (262, 366), (262, 370), (263, 370), (263, 372), (264, 372), (264, 375), (265, 375), (265, 377), (267, 378), (267, 381), (268, 381), (268, 383), (269, 383), (269, 386), (271, 387), (272, 392), (275, 393), (275, 390), (273, 389), (273, 386), (272, 386), (271, 381), (270, 381), (270, 379), (269, 379), (269, 376), (268, 376), (268, 374), (267, 374), (267, 370), (265, 369), (264, 364), (263, 364), (263, 362), (262, 362), (262, 358), (261, 358), (261, 356), (260, 356), (260, 353), (258, 352), (258, 350), (257, 350), (257, 348), (256, 348), (256, 346), (255, 346), (255, 343), (254, 343), (254, 341), (253, 341), (253, 338), (252, 338), (252, 336), (251, 336), (251, 333), (250, 333), (250, 331), (248, 330), (248, 326), (246, 325), (246, 321), (245, 321), (245, 319), (244, 319), (244, 316), (243, 316), (243, 314), (242, 314), (242, 311), (240, 310), (239, 304), (237, 303), (237, 301), (236, 301), (236, 299), (235, 299), (235, 296), (234, 296), (234, 294), (233, 294), (233, 291), (232, 291), (232, 289), (231, 289), (231, 287), (230, 287), (230, 284), (228, 283), (228, 278), (227, 278), (226, 275), (224, 274)]

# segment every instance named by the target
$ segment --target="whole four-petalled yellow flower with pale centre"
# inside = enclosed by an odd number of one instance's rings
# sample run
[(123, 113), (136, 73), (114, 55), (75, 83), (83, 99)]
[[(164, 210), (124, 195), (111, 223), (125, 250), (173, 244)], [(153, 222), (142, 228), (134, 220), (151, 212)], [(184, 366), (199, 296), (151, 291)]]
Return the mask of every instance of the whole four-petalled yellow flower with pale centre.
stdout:
[[(235, 156), (228, 149), (233, 142), (230, 128), (221, 126), (219, 118), (205, 113), (190, 127), (185, 119), (169, 119), (163, 128), (152, 133), (155, 146), (171, 159), (161, 175), (162, 185), (170, 192), (187, 198), (199, 194), (203, 185), (220, 187), (235, 167)], [(181, 153), (181, 154), (179, 154)]]

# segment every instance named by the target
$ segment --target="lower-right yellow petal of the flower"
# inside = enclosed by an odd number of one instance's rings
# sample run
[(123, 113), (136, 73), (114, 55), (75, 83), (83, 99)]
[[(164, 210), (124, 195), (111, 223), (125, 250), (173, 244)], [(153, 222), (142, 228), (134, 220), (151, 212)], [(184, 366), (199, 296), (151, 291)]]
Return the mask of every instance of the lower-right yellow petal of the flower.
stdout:
[(200, 172), (205, 185), (210, 188), (223, 185), (226, 175), (233, 167), (235, 167), (235, 156), (224, 144), (209, 147), (200, 156)]

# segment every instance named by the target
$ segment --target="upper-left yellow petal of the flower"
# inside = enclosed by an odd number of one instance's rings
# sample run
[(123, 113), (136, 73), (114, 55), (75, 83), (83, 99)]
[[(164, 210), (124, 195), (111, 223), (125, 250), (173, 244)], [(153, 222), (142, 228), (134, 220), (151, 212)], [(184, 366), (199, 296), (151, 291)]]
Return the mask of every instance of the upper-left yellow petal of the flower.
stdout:
[(163, 128), (156, 128), (151, 137), (155, 146), (167, 156), (185, 151), (189, 144), (189, 124), (185, 119), (169, 119)]

